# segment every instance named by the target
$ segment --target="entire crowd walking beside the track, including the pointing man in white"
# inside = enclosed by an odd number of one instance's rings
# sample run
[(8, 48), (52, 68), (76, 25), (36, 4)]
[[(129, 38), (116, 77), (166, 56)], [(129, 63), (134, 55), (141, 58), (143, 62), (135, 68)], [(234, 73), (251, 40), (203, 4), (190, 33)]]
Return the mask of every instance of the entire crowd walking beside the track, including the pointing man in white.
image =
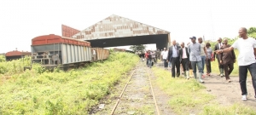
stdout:
[[(184, 77), (189, 79), (189, 70), (193, 70), (193, 76), (200, 83), (204, 83), (202, 78), (205, 76), (211, 76), (212, 67), (211, 61), (218, 60), (219, 76), (225, 77), (228, 83), (230, 80), (230, 73), (234, 69), (234, 63), (236, 62), (236, 55), (234, 49), (238, 49), (238, 66), (239, 66), (239, 83), (241, 86), (241, 100), (247, 100), (247, 70), (251, 73), (254, 97), (256, 99), (256, 40), (252, 37), (247, 37), (247, 29), (241, 27), (239, 30), (239, 36), (235, 43), (229, 44), (228, 39), (218, 38), (218, 43), (215, 45), (214, 50), (211, 49), (210, 43), (203, 43), (202, 38), (189, 37), (191, 43), (187, 43), (187, 47), (182, 42), (180, 45), (175, 40), (172, 41), (172, 46), (169, 49), (164, 48), (163, 51), (156, 53), (161, 56), (164, 61), (165, 68), (168, 67), (168, 62), (172, 65), (172, 78), (180, 76), (180, 65), (183, 68)], [(145, 56), (147, 58), (146, 53)], [(148, 65), (149, 64), (149, 65)], [(147, 65), (151, 67), (151, 61), (148, 61)], [(207, 67), (207, 73), (204, 73), (204, 67)], [(198, 70), (198, 73), (197, 73)]]

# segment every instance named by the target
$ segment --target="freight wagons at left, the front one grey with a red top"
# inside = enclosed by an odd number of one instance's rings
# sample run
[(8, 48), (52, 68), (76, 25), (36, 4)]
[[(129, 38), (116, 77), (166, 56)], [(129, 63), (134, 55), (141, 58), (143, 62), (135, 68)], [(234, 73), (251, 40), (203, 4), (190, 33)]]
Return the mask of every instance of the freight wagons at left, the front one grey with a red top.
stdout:
[[(67, 70), (69, 66), (80, 66), (86, 62), (108, 59), (109, 50), (96, 48), (95, 60), (92, 60), (90, 43), (70, 37), (54, 34), (32, 39), (32, 63), (41, 63), (46, 68), (60, 66)], [(31, 68), (26, 66), (26, 68)]]

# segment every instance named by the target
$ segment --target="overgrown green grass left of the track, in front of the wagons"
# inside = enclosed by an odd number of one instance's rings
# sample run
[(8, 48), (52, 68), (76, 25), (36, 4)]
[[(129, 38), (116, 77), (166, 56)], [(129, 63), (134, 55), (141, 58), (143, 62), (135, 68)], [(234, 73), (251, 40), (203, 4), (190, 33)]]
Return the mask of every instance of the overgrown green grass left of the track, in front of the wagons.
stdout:
[(104, 62), (69, 72), (34, 67), (14, 74), (0, 84), (0, 114), (88, 114), (138, 60), (112, 53)]

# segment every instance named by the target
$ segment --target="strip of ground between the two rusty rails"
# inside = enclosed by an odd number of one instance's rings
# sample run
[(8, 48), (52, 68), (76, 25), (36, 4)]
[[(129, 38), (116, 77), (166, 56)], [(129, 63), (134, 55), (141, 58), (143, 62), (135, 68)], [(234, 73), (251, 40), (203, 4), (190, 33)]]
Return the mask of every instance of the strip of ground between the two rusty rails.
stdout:
[(140, 63), (125, 89), (114, 114), (155, 114), (148, 73)]

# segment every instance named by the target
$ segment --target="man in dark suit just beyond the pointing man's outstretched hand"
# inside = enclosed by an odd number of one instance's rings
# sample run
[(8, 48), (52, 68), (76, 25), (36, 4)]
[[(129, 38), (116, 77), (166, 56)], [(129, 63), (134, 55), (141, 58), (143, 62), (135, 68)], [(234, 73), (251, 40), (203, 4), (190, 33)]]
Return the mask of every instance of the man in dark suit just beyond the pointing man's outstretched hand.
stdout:
[(213, 60), (215, 61), (215, 57), (217, 58), (217, 60), (218, 60), (218, 69), (219, 69), (219, 72), (220, 72), (219, 76), (224, 77), (224, 66), (219, 62), (219, 57), (220, 56), (215, 53), (215, 51), (219, 50), (221, 48), (221, 46), (223, 45), (223, 43), (221, 43), (221, 42), (222, 42), (222, 38), (219, 37), (218, 38), (218, 43), (214, 47)]

